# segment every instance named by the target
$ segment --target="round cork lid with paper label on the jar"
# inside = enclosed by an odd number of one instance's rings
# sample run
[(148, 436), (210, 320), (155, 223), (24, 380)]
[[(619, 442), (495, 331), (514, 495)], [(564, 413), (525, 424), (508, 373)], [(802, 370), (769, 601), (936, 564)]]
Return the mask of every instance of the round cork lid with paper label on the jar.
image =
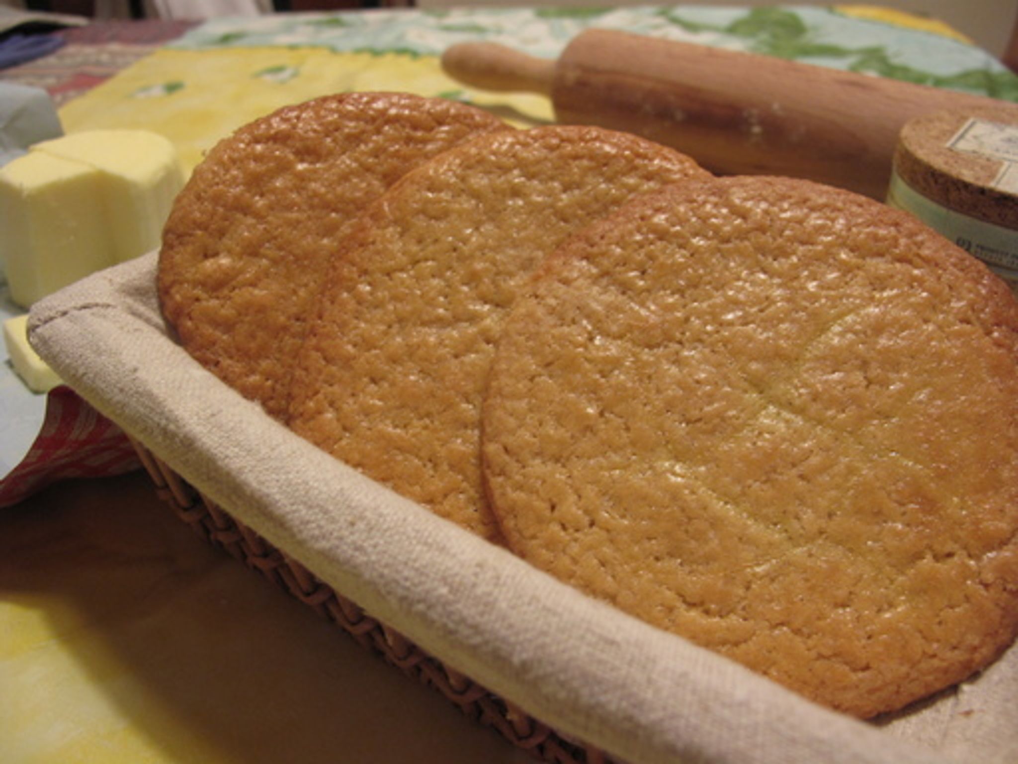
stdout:
[(932, 202), (1018, 230), (1018, 104), (910, 120), (899, 137), (894, 169)]

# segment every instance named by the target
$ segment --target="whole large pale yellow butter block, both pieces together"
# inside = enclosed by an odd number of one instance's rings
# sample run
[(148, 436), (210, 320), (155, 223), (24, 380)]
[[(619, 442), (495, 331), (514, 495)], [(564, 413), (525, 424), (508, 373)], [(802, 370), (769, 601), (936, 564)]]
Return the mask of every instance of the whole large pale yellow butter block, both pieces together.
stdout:
[(147, 130), (36, 144), (0, 168), (0, 262), (27, 308), (94, 271), (159, 247), (184, 182), (173, 145)]

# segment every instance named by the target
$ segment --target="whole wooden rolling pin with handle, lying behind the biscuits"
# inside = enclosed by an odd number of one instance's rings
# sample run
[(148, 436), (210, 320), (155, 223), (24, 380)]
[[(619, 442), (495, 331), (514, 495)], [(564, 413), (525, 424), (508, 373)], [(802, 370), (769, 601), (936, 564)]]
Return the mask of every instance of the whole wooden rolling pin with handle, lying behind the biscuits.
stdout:
[(558, 61), (463, 43), (442, 65), (471, 87), (543, 93), (560, 123), (634, 132), (719, 174), (792, 175), (876, 199), (911, 117), (1002, 103), (607, 30), (581, 33)]

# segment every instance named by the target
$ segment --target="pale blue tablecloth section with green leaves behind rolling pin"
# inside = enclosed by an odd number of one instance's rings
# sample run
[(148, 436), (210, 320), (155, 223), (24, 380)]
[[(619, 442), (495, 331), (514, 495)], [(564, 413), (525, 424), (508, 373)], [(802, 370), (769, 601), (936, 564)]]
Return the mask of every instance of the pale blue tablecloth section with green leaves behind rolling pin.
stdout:
[(491, 41), (555, 58), (586, 29), (608, 29), (778, 56), (836, 69), (1018, 100), (1018, 76), (959, 40), (805, 5), (732, 7), (453, 7), (212, 18), (170, 44), (182, 50), (325, 48), (337, 53), (440, 56)]

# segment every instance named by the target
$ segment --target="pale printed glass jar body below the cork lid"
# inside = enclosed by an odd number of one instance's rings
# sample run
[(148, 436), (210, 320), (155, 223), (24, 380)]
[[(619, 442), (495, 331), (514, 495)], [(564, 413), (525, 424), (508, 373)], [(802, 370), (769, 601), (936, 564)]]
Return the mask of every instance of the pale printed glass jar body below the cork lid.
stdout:
[(909, 212), (1009, 281), (1018, 281), (1018, 231), (949, 210), (891, 173), (887, 203)]

